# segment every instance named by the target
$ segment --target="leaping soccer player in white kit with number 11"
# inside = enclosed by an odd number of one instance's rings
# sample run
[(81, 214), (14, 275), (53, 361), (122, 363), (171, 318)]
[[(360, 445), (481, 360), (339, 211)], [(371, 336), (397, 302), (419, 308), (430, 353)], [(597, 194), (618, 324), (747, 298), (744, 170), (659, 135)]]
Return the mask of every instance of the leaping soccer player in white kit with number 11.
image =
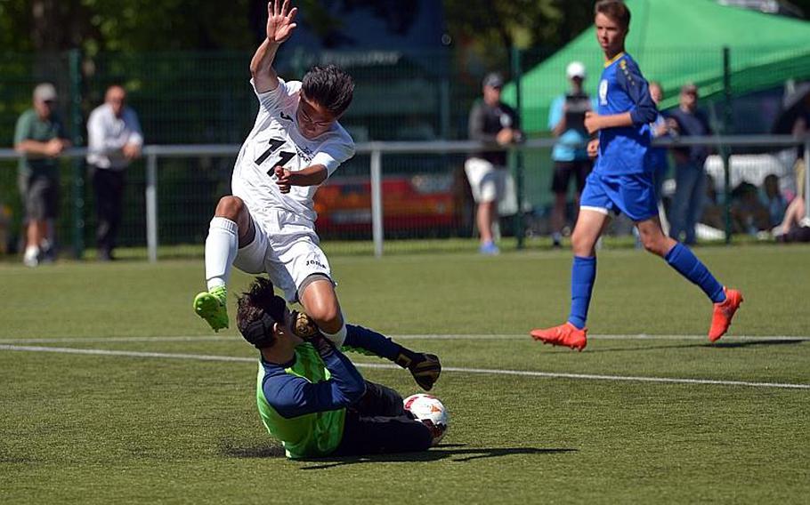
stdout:
[(312, 196), (354, 155), (352, 137), (337, 123), (354, 83), (331, 65), (312, 68), (302, 82), (279, 78), (272, 62), (296, 28), (297, 9), (275, 0), (267, 11), (267, 38), (250, 62), (259, 112), (234, 165), (232, 196), (220, 199), (208, 229), (207, 291), (195, 297), (194, 310), (215, 331), (227, 328), (231, 265), (266, 272), (340, 345), (346, 326), (315, 233)]

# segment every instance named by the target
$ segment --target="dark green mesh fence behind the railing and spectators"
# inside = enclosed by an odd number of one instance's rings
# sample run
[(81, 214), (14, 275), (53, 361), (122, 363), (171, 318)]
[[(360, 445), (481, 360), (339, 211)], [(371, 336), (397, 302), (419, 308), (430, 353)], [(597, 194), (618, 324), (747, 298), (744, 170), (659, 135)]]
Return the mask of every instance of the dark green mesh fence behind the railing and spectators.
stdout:
[[(756, 48), (750, 49), (754, 51)], [(801, 48), (785, 51), (798, 54)], [(553, 53), (550, 49), (498, 51), (484, 62), (463, 48), (280, 52), (276, 66), (279, 75), (288, 79), (300, 78), (313, 64), (336, 63), (347, 68), (357, 83), (352, 107), (341, 123), (359, 143), (360, 151), (319, 191), (319, 204), (325, 211), (320, 212), (321, 235), (328, 240), (352, 241), (351, 247), (363, 241), (372, 244), (375, 228), (369, 167), (379, 162), (383, 167), (380, 188), (385, 198), (378, 206), (384, 210), (385, 233), (377, 230), (377, 235), (385, 237), (386, 250), (405, 238), (474, 236), (474, 207), (463, 171), (469, 145), (451, 142), (466, 139), (468, 111), (481, 95), (481, 77), (486, 71), (498, 69), (507, 77), (524, 76)], [(732, 61), (748, 57), (743, 52), (731, 54)], [(594, 60), (599, 58), (599, 52), (571, 54), (571, 58)], [(693, 60), (724, 64), (724, 52), (717, 47), (691, 52), (672, 48), (647, 52), (643, 58), (645, 76), (669, 80), (674, 76), (666, 74), (667, 68), (678, 68)], [(125, 84), (129, 103), (138, 112), (151, 147), (146, 151), (150, 156), (127, 171), (127, 212), (120, 242), (130, 246), (145, 244), (148, 222), (143, 209), (150, 188), (148, 162), (154, 155), (158, 184), (150, 191), (155, 192), (160, 220), (153, 233), (161, 244), (202, 244), (212, 205), (230, 190), (228, 182), (237, 144), (255, 119), (256, 100), (247, 84), (249, 59), (249, 52), (4, 54), (0, 59), (0, 148), (12, 147), (15, 121), (30, 107), (30, 93), (37, 83), (51, 81), (57, 85), (59, 110), (77, 146), (84, 145), (85, 118), (101, 103), (106, 87)], [(806, 61), (796, 60), (797, 64)], [(675, 67), (668, 65), (673, 61)], [(599, 69), (588, 70), (586, 89), (594, 92)], [(797, 76), (810, 75), (807, 68), (796, 71)], [(555, 79), (526, 81), (522, 95), (528, 98), (564, 93), (564, 62), (558, 74)], [(733, 96), (702, 103), (709, 109), (716, 131), (724, 135), (767, 132), (780, 112), (782, 90), (771, 88), (741, 95), (735, 92), (740, 86), (730, 78)], [(675, 90), (665, 91), (671, 95)], [(553, 199), (549, 190), (552, 140), (545, 131), (547, 105), (544, 102), (539, 108), (526, 106), (522, 110), (523, 124), (533, 125), (533, 138), (521, 149), (520, 167), (514, 160), (517, 188), (503, 205), (502, 213), (509, 217), (502, 220), (502, 235), (520, 237), (525, 232), (529, 237), (543, 236), (547, 231), (545, 220)], [(768, 145), (773, 139), (760, 140), (763, 143), (757, 146), (734, 144), (729, 152), (768, 153), (774, 149)], [(779, 141), (781, 145), (798, 142), (785, 138)], [(710, 142), (717, 146), (717, 138)], [(212, 151), (212, 145), (218, 147)], [(4, 226), (8, 235), (19, 236), (21, 209), (13, 156), (6, 151), (0, 157), (0, 222), (7, 221)], [(60, 219), (54, 224), (62, 248), (72, 244), (78, 253), (85, 244), (93, 244), (92, 188), (85, 184), (83, 164), (64, 159)], [(790, 180), (785, 162), (779, 166), (782, 179)], [(371, 251), (373, 247), (369, 247)]]

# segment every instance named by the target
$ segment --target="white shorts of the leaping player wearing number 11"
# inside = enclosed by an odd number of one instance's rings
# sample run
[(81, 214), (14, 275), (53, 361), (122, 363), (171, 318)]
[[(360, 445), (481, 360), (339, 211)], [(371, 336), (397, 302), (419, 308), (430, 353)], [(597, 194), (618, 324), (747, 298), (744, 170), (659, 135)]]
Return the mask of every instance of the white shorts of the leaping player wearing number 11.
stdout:
[(298, 300), (298, 287), (306, 277), (323, 274), (331, 278), (326, 254), (320, 250), (320, 239), (312, 221), (293, 212), (271, 209), (254, 215), (253, 242), (239, 248), (233, 266), (248, 274), (267, 273), (284, 292), (287, 301)]

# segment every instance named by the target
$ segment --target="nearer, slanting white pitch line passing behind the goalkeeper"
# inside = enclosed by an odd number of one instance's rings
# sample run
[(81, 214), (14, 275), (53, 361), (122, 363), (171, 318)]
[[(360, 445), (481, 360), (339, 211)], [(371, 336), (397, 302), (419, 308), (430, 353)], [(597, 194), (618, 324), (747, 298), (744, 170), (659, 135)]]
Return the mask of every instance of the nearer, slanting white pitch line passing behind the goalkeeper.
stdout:
[[(28, 351), (28, 352), (53, 352), (61, 354), (84, 354), (95, 356), (120, 356), (120, 357), (158, 357), (158, 358), (171, 358), (171, 359), (193, 359), (199, 361), (219, 361), (219, 362), (238, 362), (238, 363), (255, 363), (255, 357), (236, 357), (236, 356), (210, 356), (202, 354), (182, 354), (182, 353), (163, 353), (163, 352), (142, 352), (142, 351), (126, 351), (126, 350), (109, 350), (109, 349), (72, 349), (72, 348), (50, 348), (50, 347), (36, 347), (36, 346), (15, 346), (15, 345), (0, 345), (0, 350), (11, 351)], [(373, 364), (373, 363), (358, 363), (358, 368), (384, 368), (384, 369), (399, 369), (397, 365), (386, 364)], [(777, 388), (777, 389), (810, 389), (810, 384), (790, 384), (781, 382), (749, 382), (749, 381), (716, 381), (711, 379), (678, 379), (668, 377), (634, 377), (624, 375), (595, 375), (590, 373), (555, 373), (555, 372), (531, 372), (523, 370), (500, 370), (490, 368), (462, 368), (455, 366), (448, 366), (442, 368), (444, 372), (460, 372), (460, 373), (489, 373), (497, 375), (520, 375), (524, 377), (547, 377), (547, 378), (562, 378), (562, 379), (580, 379), (587, 381), (632, 381), (632, 382), (659, 382), (669, 384), (710, 384), (718, 386), (747, 386), (752, 388)]]

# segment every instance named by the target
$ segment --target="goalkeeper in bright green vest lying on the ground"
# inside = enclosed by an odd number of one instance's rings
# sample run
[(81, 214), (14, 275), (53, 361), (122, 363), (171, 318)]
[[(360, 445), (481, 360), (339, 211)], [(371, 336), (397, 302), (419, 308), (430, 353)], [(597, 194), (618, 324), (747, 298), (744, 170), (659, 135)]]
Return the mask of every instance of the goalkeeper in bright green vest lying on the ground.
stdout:
[[(433, 435), (402, 407), (393, 389), (365, 381), (303, 313), (290, 312), (268, 279), (239, 298), (239, 332), (259, 349), (256, 402), (264, 426), (288, 458), (425, 451)], [(403, 348), (366, 328), (346, 325), (342, 349), (385, 357), (431, 389), (439, 358)]]

